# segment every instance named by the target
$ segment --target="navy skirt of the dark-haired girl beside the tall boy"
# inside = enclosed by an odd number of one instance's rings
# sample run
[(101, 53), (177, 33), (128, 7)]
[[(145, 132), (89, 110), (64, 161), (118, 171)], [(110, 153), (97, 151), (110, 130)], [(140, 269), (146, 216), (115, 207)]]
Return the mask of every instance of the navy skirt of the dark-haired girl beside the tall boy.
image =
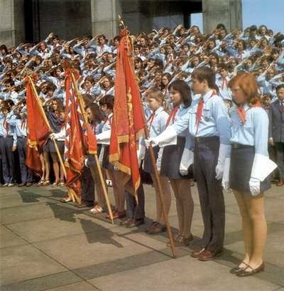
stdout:
[(180, 174), (180, 162), (185, 149), (185, 137), (178, 137), (177, 144), (165, 146), (163, 149), (162, 162), (160, 165), (160, 175), (169, 179), (192, 179), (192, 165), (187, 176)]

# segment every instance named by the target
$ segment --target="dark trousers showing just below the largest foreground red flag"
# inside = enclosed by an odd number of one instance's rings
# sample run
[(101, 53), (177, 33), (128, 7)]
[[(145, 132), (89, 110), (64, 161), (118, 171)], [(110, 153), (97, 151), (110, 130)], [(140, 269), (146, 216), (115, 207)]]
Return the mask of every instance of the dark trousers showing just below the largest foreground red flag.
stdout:
[(145, 196), (143, 184), (141, 183), (137, 190), (138, 203), (135, 197), (126, 191), (126, 216), (127, 218), (134, 218), (136, 221), (145, 218)]

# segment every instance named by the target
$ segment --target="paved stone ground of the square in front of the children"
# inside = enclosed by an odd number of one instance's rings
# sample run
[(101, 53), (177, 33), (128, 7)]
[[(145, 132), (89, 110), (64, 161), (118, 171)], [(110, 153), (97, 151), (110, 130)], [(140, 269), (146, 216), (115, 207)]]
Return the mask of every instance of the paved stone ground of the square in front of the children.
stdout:
[[(146, 214), (155, 216), (153, 188), (146, 186)], [(192, 188), (194, 242), (170, 257), (165, 234), (111, 225), (59, 200), (64, 189), (1, 188), (1, 287), (5, 291), (284, 291), (284, 188), (266, 194), (266, 271), (238, 278), (229, 273), (242, 258), (241, 219), (232, 194), (226, 196), (224, 255), (200, 262), (190, 251), (202, 236), (197, 189)], [(111, 196), (111, 195), (110, 195)], [(150, 222), (149, 220), (147, 221)], [(176, 231), (175, 200), (170, 223)]]

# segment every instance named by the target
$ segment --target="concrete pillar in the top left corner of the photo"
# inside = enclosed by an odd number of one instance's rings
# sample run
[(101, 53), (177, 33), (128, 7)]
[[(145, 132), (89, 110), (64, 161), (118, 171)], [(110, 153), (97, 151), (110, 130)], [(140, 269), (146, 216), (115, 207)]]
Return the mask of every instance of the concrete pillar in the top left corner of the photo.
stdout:
[(0, 43), (15, 46), (25, 39), (23, 0), (0, 0)]

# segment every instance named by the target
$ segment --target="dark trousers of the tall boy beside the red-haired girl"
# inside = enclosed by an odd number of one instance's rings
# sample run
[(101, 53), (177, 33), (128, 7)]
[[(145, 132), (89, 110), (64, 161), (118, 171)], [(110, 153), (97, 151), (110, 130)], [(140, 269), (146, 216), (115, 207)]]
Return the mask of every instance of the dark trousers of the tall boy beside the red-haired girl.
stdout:
[(219, 137), (195, 141), (195, 178), (204, 223), (202, 245), (208, 250), (222, 250), (224, 245), (225, 206), (222, 180), (215, 179), (219, 155)]

